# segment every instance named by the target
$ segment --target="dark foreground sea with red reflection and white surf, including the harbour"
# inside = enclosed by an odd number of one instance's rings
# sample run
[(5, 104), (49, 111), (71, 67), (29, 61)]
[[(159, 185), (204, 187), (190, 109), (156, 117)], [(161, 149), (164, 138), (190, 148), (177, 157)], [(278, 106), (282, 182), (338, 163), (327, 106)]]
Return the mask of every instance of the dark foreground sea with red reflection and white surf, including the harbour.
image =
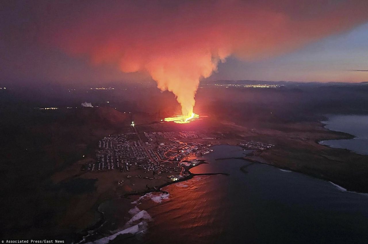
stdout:
[(212, 149), (199, 175), (132, 199), (125, 225), (94, 243), (368, 243), (368, 194)]

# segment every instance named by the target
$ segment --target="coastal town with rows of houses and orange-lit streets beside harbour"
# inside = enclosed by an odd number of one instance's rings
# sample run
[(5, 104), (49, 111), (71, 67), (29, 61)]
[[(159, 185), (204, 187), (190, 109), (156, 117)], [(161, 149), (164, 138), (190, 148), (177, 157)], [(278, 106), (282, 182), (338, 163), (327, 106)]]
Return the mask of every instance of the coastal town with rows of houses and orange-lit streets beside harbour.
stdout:
[[(203, 135), (201, 135), (203, 136)], [(106, 172), (118, 170), (125, 175), (118, 185), (132, 177), (154, 180), (167, 177), (177, 181), (190, 175), (189, 169), (203, 161), (198, 156), (209, 154), (208, 137), (197, 132), (143, 132), (134, 126), (131, 132), (109, 135), (98, 142), (95, 160), (82, 170)]]

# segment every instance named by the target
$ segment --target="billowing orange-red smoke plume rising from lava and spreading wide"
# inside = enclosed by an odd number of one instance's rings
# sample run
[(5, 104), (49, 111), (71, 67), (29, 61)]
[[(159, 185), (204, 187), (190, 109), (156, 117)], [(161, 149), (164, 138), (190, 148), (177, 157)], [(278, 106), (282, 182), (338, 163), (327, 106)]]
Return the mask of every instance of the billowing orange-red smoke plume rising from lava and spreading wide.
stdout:
[(366, 0), (125, 1), (75, 9), (50, 28), (53, 44), (123, 72), (147, 71), (174, 93), (184, 117), (193, 116), (199, 80), (228, 56), (268, 58), (368, 20)]

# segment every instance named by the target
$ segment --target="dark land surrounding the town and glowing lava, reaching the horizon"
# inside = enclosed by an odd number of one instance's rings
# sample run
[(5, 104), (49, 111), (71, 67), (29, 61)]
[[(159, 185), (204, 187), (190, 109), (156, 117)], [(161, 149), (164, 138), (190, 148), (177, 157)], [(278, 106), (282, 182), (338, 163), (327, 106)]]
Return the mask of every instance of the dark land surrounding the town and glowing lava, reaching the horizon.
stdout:
[[(181, 128), (151, 124), (180, 110), (169, 92), (142, 85), (113, 91), (69, 89), (14, 87), (0, 91), (1, 216), (7, 220), (1, 222), (1, 233), (8, 239), (62, 237), (98, 221), (96, 204), (100, 200), (65, 217), (78, 201), (95, 195), (98, 179), (72, 181), (81, 186), (75, 191), (69, 181), (55, 184), (52, 176), (83, 160), (83, 155), (92, 158), (100, 138), (128, 130), (131, 120), (142, 131), (197, 129), (222, 135), (223, 143), (244, 139), (273, 143), (275, 148), (255, 156), (352, 191), (368, 192), (367, 156), (317, 143), (351, 137), (324, 129), (319, 121), (325, 114), (368, 114), (367, 84), (289, 84), (269, 89), (206, 85), (198, 90), (195, 112), (208, 115), (208, 120)], [(81, 107), (85, 101), (99, 107)], [(75, 179), (80, 173), (75, 172)], [(113, 194), (106, 192), (96, 199)]]

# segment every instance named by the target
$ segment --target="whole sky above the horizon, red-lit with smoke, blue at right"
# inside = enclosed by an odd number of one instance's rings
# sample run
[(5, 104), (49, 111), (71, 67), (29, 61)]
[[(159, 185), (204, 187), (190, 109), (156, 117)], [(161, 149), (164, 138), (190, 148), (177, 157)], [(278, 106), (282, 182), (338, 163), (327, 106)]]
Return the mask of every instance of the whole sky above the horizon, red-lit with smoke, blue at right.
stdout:
[(368, 81), (366, 0), (0, 5), (4, 84), (153, 78), (161, 89), (187, 90), (188, 97), (196, 89), (190, 84), (206, 77)]

